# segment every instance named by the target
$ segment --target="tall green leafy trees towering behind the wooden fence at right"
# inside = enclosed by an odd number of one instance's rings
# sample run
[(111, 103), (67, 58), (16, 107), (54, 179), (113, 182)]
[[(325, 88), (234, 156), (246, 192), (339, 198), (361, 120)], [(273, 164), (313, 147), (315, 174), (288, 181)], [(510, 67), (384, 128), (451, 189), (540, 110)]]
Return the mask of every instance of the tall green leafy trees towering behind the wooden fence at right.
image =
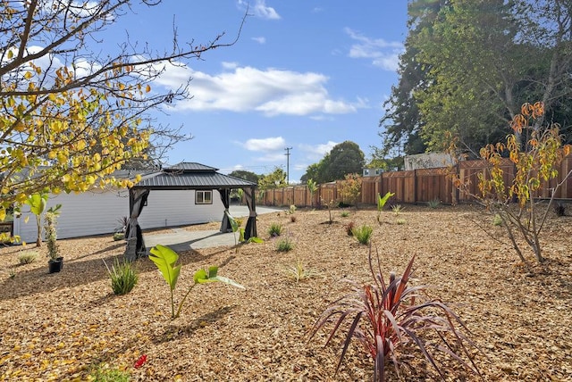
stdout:
[(545, 105), (543, 119), (562, 121), (560, 134), (570, 141), (568, 1), (414, 0), (408, 15), (400, 82), (380, 123), (379, 158), (391, 149), (398, 156), (441, 151), (451, 136), (461, 154), (478, 157), (531, 99)]

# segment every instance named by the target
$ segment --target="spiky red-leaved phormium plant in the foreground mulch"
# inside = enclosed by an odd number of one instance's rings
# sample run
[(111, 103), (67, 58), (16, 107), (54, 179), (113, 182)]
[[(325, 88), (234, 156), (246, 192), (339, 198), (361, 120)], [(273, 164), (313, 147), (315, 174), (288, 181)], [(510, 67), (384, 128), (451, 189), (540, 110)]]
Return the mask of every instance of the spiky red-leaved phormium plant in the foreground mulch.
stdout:
[[(458, 316), (441, 300), (416, 303), (418, 292), (425, 286), (408, 286), (415, 256), (408, 263), (403, 276), (399, 278), (394, 273), (390, 274), (389, 283), (383, 278), (379, 254), (376, 257), (377, 263), (374, 264), (370, 246), (369, 268), (374, 284), (359, 285), (352, 280), (346, 280), (353, 286), (353, 291), (332, 303), (312, 329), (310, 339), (326, 324), (333, 322), (325, 345), (330, 343), (337, 332), (346, 331), (336, 372), (340, 369), (349, 342), (354, 338), (364, 345), (366, 352), (374, 360), (374, 381), (383, 381), (388, 360), (392, 361), (399, 375), (400, 365), (408, 364), (407, 359), (400, 358), (399, 349), (408, 344), (414, 344), (421, 350), (425, 359), (433, 365), (443, 380), (445, 376), (442, 367), (433, 357), (433, 350), (449, 354), (480, 376), (466, 347), (468, 344), (476, 348), (476, 345), (456, 328), (458, 325), (468, 332)], [(351, 320), (349, 327), (341, 326), (347, 318)], [(431, 342), (424, 336), (430, 332), (435, 335)], [(454, 349), (459, 349), (461, 354)], [(463, 354), (470, 365), (461, 358)]]

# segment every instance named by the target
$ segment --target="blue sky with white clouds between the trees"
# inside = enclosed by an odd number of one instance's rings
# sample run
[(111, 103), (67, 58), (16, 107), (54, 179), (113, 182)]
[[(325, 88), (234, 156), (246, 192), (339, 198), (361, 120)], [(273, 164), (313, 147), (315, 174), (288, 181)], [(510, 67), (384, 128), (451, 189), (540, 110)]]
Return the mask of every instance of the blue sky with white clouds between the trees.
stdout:
[[(215, 5), (214, 5), (215, 4)], [(230, 42), (246, 0), (165, 0), (119, 19), (108, 32), (162, 51), (180, 42), (205, 43), (225, 32)], [(356, 142), (366, 158), (380, 145), (383, 101), (397, 83), (398, 55), (407, 35), (407, 1), (250, 0), (239, 41), (201, 61), (169, 66), (154, 88), (177, 88), (192, 77), (193, 98), (173, 104), (157, 122), (194, 137), (175, 145), (168, 162), (220, 169), (286, 170), (290, 182), (333, 145)]]

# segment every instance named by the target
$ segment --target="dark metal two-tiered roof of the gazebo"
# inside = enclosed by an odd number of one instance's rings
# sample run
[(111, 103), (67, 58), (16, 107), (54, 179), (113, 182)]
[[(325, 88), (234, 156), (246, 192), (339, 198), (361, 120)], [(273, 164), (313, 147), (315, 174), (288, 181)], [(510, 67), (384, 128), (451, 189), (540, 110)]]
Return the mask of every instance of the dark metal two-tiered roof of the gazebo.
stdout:
[(133, 188), (148, 189), (213, 189), (257, 187), (256, 183), (216, 172), (214, 167), (195, 162), (182, 162), (166, 167)]

